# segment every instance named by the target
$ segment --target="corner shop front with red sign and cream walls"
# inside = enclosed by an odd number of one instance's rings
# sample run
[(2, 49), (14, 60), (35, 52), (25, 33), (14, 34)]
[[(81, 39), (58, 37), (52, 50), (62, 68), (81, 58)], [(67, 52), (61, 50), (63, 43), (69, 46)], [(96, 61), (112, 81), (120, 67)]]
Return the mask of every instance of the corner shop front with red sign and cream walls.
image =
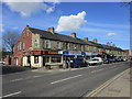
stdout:
[(63, 65), (63, 54), (57, 51), (31, 51), (23, 57), (23, 66), (44, 67), (46, 65)]

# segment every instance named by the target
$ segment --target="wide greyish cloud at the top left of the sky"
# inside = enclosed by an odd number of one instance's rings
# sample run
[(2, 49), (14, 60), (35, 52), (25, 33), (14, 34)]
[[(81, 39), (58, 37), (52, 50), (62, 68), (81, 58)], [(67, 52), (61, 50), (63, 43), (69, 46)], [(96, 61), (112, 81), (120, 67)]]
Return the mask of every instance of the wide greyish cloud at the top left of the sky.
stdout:
[[(41, 0), (43, 1), (43, 0)], [(55, 10), (57, 2), (4, 2), (11, 11), (19, 12), (22, 16), (30, 16), (41, 10), (51, 13)]]

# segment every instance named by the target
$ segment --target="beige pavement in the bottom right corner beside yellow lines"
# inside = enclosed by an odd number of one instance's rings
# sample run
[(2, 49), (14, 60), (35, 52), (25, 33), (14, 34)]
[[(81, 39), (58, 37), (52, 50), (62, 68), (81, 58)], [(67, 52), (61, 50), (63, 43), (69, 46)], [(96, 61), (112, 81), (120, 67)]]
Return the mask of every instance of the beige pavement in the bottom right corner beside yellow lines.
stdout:
[(132, 68), (112, 77), (85, 97), (131, 97)]

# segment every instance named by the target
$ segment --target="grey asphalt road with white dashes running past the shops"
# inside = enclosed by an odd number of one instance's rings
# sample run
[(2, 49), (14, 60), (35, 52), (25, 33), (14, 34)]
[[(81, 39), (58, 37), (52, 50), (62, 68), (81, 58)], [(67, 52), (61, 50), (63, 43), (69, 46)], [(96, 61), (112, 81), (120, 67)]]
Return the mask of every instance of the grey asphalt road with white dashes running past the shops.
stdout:
[(3, 75), (3, 97), (82, 97), (119, 73), (129, 62), (103, 64), (67, 72), (21, 72)]

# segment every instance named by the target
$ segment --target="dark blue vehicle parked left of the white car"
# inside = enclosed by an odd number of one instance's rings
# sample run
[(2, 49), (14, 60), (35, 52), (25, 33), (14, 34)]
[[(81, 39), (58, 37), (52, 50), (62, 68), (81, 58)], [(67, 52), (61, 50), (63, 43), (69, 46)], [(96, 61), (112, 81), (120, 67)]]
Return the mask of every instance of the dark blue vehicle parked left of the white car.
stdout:
[(84, 58), (70, 58), (70, 67), (78, 68), (78, 67), (86, 67), (88, 63)]

